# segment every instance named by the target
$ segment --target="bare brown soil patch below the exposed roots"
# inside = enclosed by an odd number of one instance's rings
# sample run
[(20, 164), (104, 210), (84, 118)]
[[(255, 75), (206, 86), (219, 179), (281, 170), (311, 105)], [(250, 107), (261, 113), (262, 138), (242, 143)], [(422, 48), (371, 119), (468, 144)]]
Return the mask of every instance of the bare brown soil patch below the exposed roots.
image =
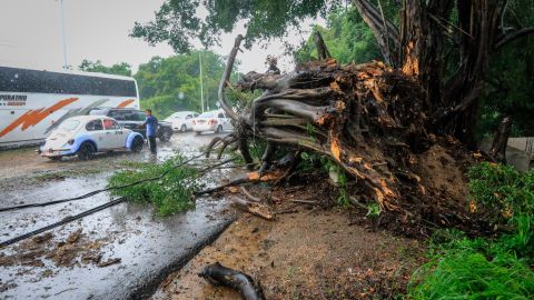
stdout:
[(423, 262), (418, 240), (353, 226), (346, 211), (306, 210), (269, 222), (244, 214), (169, 276), (152, 299), (240, 299), (198, 277), (212, 262), (258, 280), (267, 299), (384, 299)]

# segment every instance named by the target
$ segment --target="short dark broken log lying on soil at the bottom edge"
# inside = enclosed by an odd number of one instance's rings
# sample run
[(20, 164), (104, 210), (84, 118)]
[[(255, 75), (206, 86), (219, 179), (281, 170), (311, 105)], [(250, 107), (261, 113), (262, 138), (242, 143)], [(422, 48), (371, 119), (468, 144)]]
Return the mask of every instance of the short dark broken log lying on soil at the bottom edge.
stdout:
[(265, 300), (261, 287), (251, 277), (226, 268), (218, 262), (205, 267), (198, 276), (212, 284), (238, 290), (246, 300)]

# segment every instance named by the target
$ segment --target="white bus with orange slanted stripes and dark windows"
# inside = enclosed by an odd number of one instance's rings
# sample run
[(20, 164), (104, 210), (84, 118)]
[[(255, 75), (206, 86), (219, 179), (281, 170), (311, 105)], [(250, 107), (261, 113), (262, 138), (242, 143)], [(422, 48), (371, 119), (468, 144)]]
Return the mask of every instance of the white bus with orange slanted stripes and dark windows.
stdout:
[(97, 107), (139, 109), (131, 77), (0, 67), (0, 149), (41, 142)]

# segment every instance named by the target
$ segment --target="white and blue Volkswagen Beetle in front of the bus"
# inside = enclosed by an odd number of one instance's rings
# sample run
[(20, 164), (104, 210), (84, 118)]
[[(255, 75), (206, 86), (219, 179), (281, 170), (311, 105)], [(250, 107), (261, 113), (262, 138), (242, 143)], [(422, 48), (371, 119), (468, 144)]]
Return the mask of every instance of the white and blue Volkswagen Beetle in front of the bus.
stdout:
[(78, 156), (91, 159), (96, 152), (129, 150), (139, 152), (142, 136), (122, 128), (116, 120), (101, 116), (77, 116), (62, 121), (44, 140), (38, 152), (52, 160)]

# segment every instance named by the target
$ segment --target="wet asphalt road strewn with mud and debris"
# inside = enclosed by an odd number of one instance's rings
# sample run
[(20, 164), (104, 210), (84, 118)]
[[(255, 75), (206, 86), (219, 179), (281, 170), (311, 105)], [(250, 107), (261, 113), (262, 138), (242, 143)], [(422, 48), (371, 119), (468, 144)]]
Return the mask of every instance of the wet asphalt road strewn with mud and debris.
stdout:
[[(215, 136), (194, 133), (175, 134), (170, 142), (159, 143), (157, 158), (144, 152), (99, 156), (92, 161), (67, 159), (52, 162), (37, 158), (31, 149), (0, 153), (0, 207), (18, 203), (44, 202), (79, 196), (107, 184), (122, 160), (165, 160), (179, 149), (186, 156), (198, 153)], [(18, 167), (20, 166), (20, 167)], [(98, 169), (87, 176), (70, 176), (83, 168)], [(32, 177), (61, 172), (59, 180), (34, 182)], [(10, 176), (12, 174), (12, 176)], [(215, 170), (214, 178), (229, 176)], [(20, 183), (18, 183), (20, 182)], [(86, 200), (0, 212), (0, 240), (36, 230), (66, 217), (80, 213), (109, 201), (107, 193)], [(234, 219), (228, 203), (221, 199), (201, 198), (195, 210), (160, 219), (150, 208), (121, 203), (79, 221), (51, 230), (52, 242), (62, 242), (70, 233), (81, 229), (83, 239), (101, 243), (102, 261), (120, 259), (120, 263), (97, 267), (77, 263), (58, 267), (42, 257), (39, 266), (0, 266), (0, 299), (130, 299), (150, 294), (171, 271), (177, 270)], [(1, 256), (16, 254), (19, 243), (0, 249)]]

